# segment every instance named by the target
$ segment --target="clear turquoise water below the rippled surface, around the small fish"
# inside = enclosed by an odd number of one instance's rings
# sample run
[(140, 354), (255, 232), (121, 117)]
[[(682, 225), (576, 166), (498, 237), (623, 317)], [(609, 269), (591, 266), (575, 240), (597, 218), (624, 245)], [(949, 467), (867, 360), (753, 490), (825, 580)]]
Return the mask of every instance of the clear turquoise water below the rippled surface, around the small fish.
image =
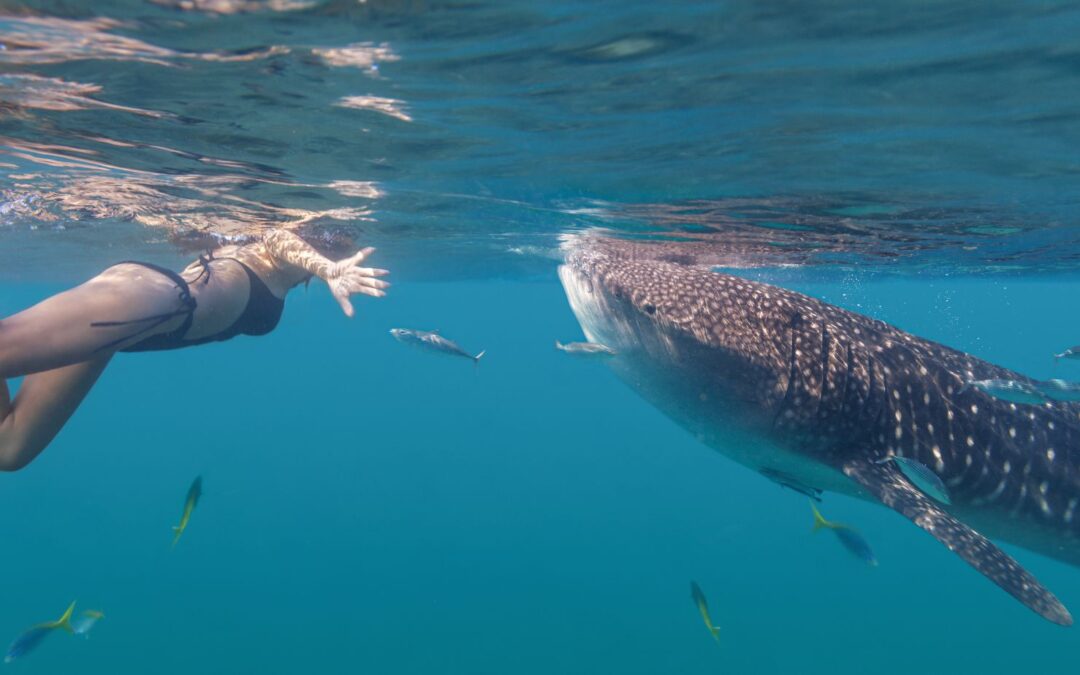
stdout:
[[(1080, 280), (788, 285), (1032, 375), (1080, 333)], [(10, 312), (56, 286), (13, 286)], [(596, 362), (551, 281), (404, 283), (349, 322), (296, 292), (266, 338), (122, 354), (43, 456), (4, 478), (0, 633), (70, 599), (91, 638), (26, 672), (1067, 672), (1031, 613), (908, 522), (826, 496), (880, 559), (810, 532), (806, 500), (694, 440)], [(1011, 315), (998, 311), (1009, 308)], [(942, 316), (946, 316), (943, 320)], [(440, 327), (480, 367), (395, 342)], [(1072, 373), (1075, 376), (1076, 374)], [(249, 384), (244, 384), (245, 382)], [(205, 496), (175, 551), (191, 478)], [(1067, 605), (1075, 568), (1008, 548)], [(721, 646), (701, 625), (702, 584)], [(940, 670), (939, 670), (940, 669)]]

